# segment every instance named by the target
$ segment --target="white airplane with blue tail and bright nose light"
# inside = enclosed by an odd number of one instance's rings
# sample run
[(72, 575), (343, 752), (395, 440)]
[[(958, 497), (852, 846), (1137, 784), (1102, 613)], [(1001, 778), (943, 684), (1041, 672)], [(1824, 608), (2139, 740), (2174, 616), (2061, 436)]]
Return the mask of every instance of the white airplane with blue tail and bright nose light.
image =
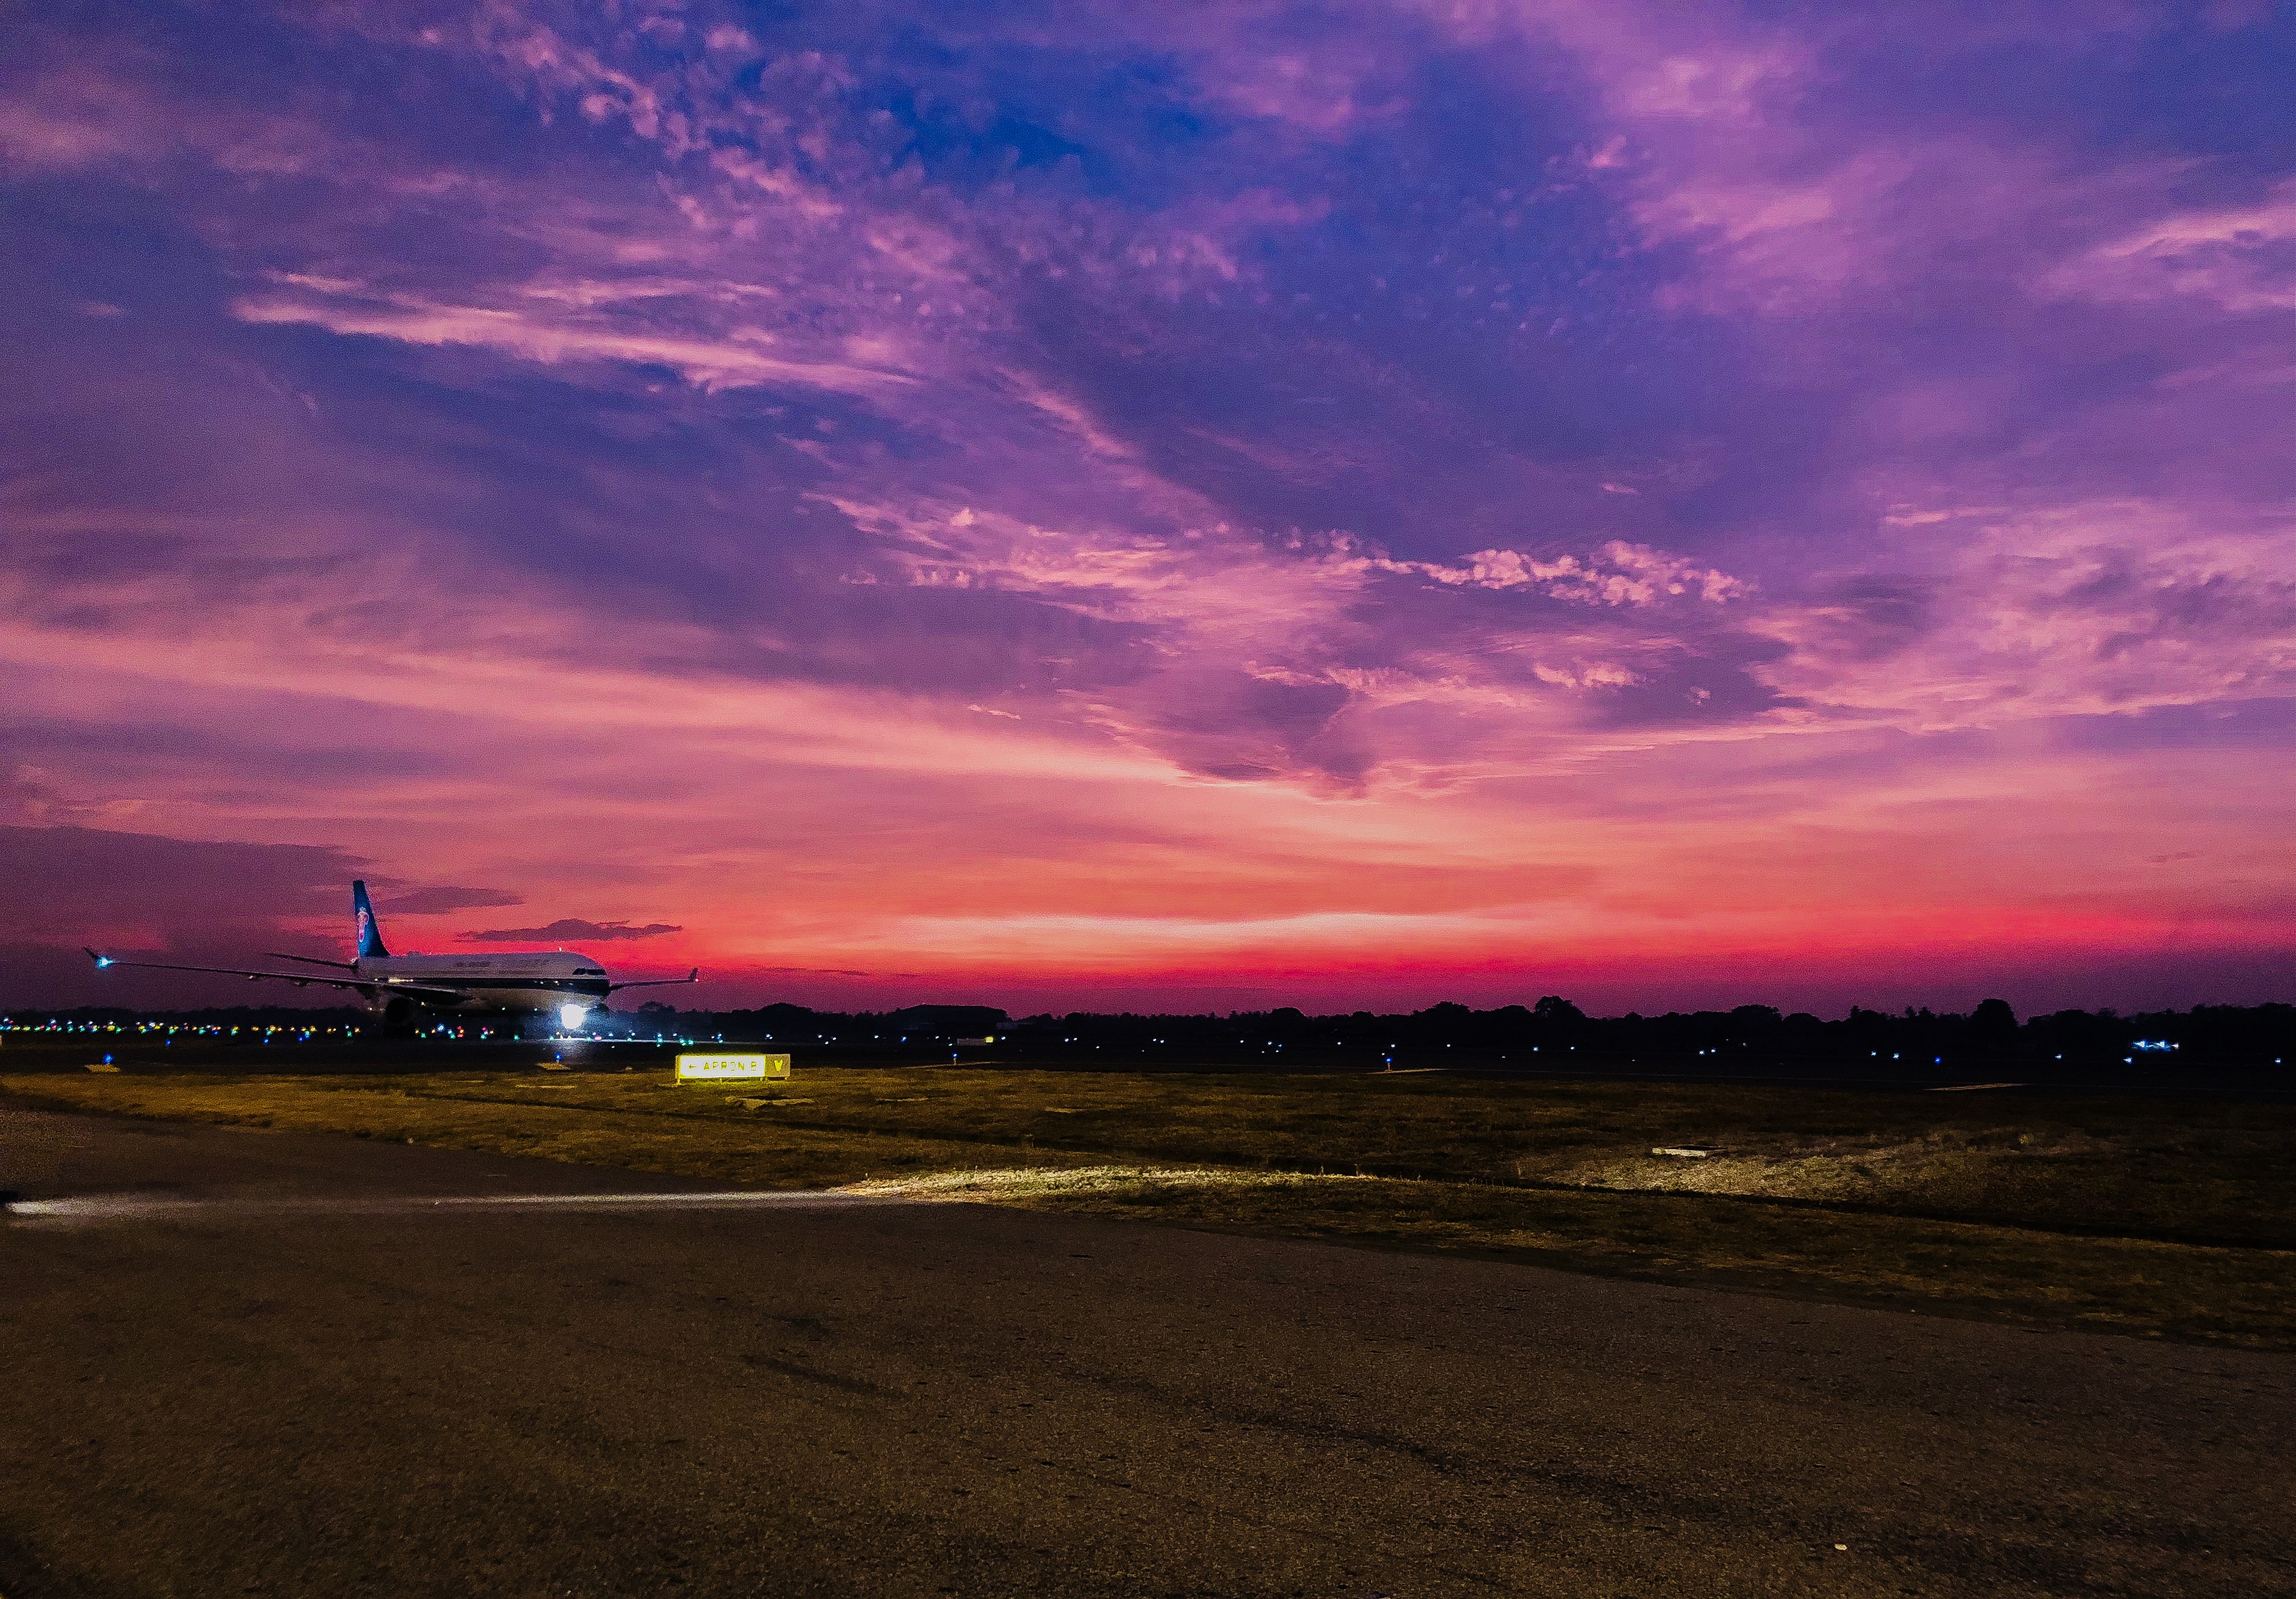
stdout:
[(280, 956), (271, 960), (294, 960), (298, 965), (331, 967), (349, 976), (317, 976), (312, 972), (250, 972), (246, 967), (191, 967), (165, 960), (119, 960), (94, 949), (87, 958), (96, 970), (145, 967), (149, 972), (214, 972), (218, 976), (243, 976), (253, 983), (276, 979), (296, 988), (351, 988), (372, 1009), (383, 1013), (388, 1032), (411, 1032), (425, 1011), (443, 1011), (457, 1020), (464, 1015), (551, 1015), (560, 1027), (574, 1032), (590, 1011), (602, 1009), (608, 995), (625, 988), (670, 988), (698, 983), (700, 967), (684, 976), (657, 976), (636, 983), (615, 983), (590, 956), (569, 949), (528, 949), (501, 956), (393, 956), (383, 947), (383, 928), (374, 919), (367, 901), (367, 885), (351, 885), (351, 958), (319, 960), (315, 956)]

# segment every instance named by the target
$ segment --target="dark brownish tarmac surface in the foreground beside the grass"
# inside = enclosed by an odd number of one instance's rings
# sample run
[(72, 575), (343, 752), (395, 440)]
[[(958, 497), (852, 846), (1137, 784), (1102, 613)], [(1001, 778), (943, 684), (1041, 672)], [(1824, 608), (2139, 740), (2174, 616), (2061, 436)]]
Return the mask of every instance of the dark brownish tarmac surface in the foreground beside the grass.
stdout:
[(2296, 1592), (2287, 1355), (0, 1110), (0, 1597)]

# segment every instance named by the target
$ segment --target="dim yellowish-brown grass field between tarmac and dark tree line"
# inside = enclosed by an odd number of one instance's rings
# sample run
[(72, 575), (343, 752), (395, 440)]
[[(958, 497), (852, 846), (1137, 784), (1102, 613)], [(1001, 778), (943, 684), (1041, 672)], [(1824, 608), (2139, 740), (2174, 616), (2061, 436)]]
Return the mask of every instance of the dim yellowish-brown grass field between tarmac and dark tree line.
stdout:
[(2296, 1349), (2287, 1105), (999, 1068), (808, 1068), (746, 1091), (542, 1071), (0, 1091)]

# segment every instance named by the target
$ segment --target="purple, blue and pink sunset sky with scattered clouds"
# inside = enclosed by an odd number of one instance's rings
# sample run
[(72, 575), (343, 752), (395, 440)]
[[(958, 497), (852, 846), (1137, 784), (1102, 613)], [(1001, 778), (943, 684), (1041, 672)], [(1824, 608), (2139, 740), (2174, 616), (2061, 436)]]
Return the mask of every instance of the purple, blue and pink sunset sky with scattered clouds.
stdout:
[[(0, 1004), (2296, 999), (2296, 11), (64, 5)], [(273, 997), (287, 997), (278, 990)]]

